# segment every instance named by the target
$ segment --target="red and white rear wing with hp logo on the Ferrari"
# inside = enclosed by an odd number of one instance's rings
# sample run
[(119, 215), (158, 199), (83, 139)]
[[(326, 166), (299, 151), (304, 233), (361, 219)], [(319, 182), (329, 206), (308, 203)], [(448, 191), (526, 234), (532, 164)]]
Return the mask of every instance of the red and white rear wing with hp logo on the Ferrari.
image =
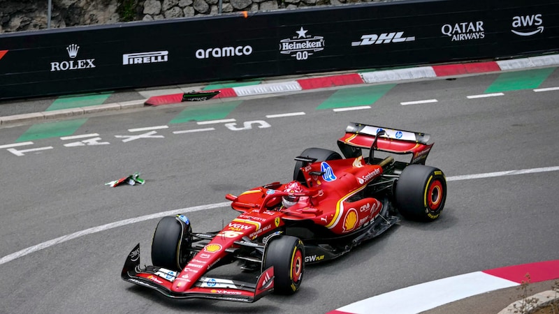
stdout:
[(434, 144), (430, 143), (431, 136), (426, 133), (351, 122), (345, 129), (345, 135), (337, 140), (337, 146), (346, 158), (356, 158), (361, 156), (361, 149), (371, 148), (380, 130), (384, 130), (386, 135), (377, 140), (377, 150), (393, 154), (412, 154), (410, 163), (425, 164)]

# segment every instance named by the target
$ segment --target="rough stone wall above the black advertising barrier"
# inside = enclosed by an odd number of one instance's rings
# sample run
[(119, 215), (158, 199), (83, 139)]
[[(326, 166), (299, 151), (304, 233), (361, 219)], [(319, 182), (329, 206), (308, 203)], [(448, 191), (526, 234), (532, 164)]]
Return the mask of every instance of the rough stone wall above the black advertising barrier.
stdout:
[[(112, 24), (124, 20), (164, 20), (219, 13), (219, 0), (51, 1), (51, 28)], [(222, 13), (337, 6), (369, 1), (383, 0), (222, 0)], [(0, 0), (0, 33), (46, 29), (47, 14), (48, 0)], [(123, 19), (125, 15), (126, 18)]]

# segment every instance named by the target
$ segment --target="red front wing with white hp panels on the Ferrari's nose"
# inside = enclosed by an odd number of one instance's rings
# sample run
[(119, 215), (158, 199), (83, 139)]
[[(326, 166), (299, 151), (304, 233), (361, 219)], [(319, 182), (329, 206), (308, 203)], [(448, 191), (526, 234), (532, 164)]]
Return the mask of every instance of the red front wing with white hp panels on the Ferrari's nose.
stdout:
[(173, 299), (201, 298), (252, 303), (272, 292), (274, 288), (274, 267), (263, 271), (258, 276), (256, 283), (212, 278), (210, 287), (207, 278), (201, 277), (189, 290), (184, 292), (172, 290), (173, 281), (182, 279), (177, 278), (178, 275), (177, 271), (157, 266), (141, 268), (140, 244), (138, 244), (126, 257), (121, 277), (124, 281), (149, 287)]

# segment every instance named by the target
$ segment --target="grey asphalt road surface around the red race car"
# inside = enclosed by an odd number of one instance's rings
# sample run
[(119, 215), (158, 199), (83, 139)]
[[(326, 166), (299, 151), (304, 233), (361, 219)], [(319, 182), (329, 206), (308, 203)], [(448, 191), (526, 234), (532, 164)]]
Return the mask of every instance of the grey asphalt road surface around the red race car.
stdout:
[[(433, 223), (402, 221), (382, 237), (333, 262), (307, 267), (291, 297), (271, 295), (256, 304), (171, 300), (119, 278), (136, 243), (150, 263), (157, 218), (75, 237), (0, 264), (0, 313), (326, 313), (345, 304), (409, 285), (512, 264), (558, 259), (556, 171), (474, 179), (470, 174), (559, 166), (558, 91), (483, 94), (495, 75), (398, 84), (369, 110), (333, 112), (317, 106), (336, 90), (252, 98), (228, 115), (237, 126), (270, 126), (173, 133), (205, 128), (168, 122), (185, 107), (169, 105), (90, 117), (76, 134), (98, 133), (110, 144), (64, 147), (58, 137), (15, 156), (0, 151), (2, 241), (0, 258), (88, 228), (164, 211), (224, 202), (226, 193), (289, 181), (293, 157), (307, 147), (336, 149), (349, 121), (430, 133), (428, 165), (449, 178), (447, 206)], [(559, 86), (555, 70), (541, 88)], [(437, 103), (400, 105), (436, 98)], [(270, 114), (305, 115), (267, 118)], [(130, 129), (169, 126), (123, 142)], [(1, 128), (1, 143), (15, 142), (29, 126)], [(145, 131), (147, 132), (147, 131)], [(104, 183), (140, 171), (145, 186)], [(212, 206), (210, 206), (212, 207)], [(194, 231), (218, 230), (235, 211), (190, 211)], [(157, 215), (155, 215), (157, 216)], [(133, 222), (134, 220), (130, 221)], [(106, 230), (104, 230), (106, 229)], [(430, 293), (425, 292), (429, 298)], [(402, 301), (402, 300), (395, 300)]]

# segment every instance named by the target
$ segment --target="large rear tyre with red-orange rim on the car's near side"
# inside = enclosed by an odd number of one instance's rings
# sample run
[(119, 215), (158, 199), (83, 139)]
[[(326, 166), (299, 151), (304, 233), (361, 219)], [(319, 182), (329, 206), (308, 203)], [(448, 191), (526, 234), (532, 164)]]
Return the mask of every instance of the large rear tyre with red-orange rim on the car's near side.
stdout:
[(438, 168), (409, 165), (400, 174), (394, 193), (396, 207), (405, 218), (435, 220), (447, 200), (447, 179)]

